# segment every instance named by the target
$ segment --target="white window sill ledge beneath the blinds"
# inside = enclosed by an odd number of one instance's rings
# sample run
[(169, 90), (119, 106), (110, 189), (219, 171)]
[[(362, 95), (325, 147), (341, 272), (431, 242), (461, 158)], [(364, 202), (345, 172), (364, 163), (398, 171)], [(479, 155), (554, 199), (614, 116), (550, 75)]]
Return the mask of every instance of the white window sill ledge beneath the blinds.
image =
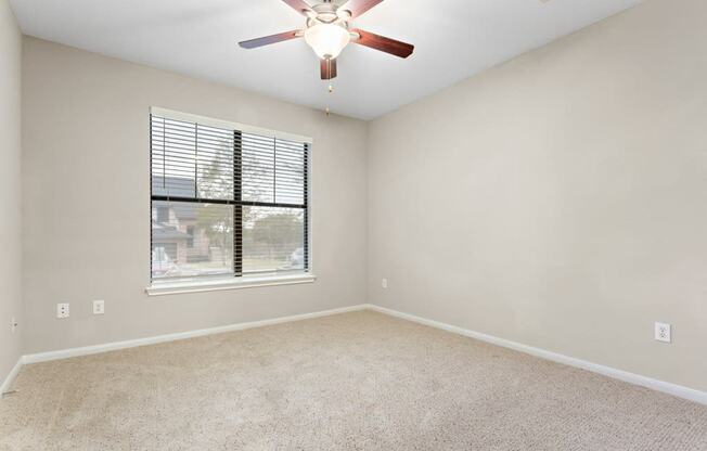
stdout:
[(312, 283), (316, 280), (317, 275), (307, 273), (296, 275), (239, 278), (227, 281), (158, 283), (146, 287), (145, 293), (149, 296), (163, 296), (185, 293), (216, 292), (221, 289), (254, 288), (257, 286), (294, 285), (300, 283)]

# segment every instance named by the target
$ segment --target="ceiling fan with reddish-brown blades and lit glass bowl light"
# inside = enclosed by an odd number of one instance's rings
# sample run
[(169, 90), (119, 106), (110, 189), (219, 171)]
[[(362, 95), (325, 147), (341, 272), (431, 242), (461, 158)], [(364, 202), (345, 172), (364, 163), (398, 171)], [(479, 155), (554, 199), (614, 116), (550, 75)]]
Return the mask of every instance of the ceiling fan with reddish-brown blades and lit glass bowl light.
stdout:
[(342, 7), (332, 0), (309, 5), (304, 0), (283, 0), (298, 13), (307, 16), (304, 29), (279, 33), (262, 38), (239, 42), (244, 49), (255, 49), (282, 42), (295, 38), (305, 38), (305, 41), (314, 50), (321, 60), (320, 70), (322, 80), (336, 77), (336, 57), (349, 42), (370, 47), (382, 52), (400, 57), (412, 54), (413, 46), (395, 39), (378, 36), (359, 28), (351, 28), (350, 21), (369, 11), (383, 0), (348, 0)]

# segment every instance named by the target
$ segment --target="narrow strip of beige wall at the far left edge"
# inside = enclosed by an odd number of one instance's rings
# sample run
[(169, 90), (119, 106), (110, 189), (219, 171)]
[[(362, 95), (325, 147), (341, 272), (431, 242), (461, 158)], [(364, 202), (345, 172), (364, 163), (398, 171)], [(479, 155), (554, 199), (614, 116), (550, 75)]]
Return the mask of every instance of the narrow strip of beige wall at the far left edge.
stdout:
[(22, 35), (7, 0), (0, 0), (0, 384), (17, 363), (21, 320), (21, 67)]

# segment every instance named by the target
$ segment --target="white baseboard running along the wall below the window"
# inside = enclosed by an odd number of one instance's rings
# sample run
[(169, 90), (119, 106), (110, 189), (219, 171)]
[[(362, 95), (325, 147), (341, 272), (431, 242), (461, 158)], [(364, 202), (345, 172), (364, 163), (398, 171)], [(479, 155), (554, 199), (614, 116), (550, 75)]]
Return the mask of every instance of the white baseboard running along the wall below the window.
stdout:
[(23, 357), (23, 363), (48, 362), (51, 360), (67, 359), (69, 357), (88, 356), (92, 353), (114, 351), (118, 349), (136, 348), (138, 346), (155, 345), (158, 343), (175, 342), (178, 339), (187, 339), (187, 338), (202, 337), (205, 335), (221, 334), (224, 332), (243, 331), (246, 328), (262, 327), (266, 325), (309, 320), (312, 318), (320, 318), (320, 317), (329, 317), (332, 314), (346, 313), (349, 311), (365, 310), (368, 307), (369, 307), (368, 305), (362, 304), (358, 306), (344, 307), (344, 308), (332, 309), (332, 310), (323, 310), (313, 313), (303, 313), (303, 314), (295, 314), (292, 317), (281, 317), (281, 318), (273, 318), (270, 320), (253, 321), (248, 323), (229, 324), (229, 325), (223, 325), (218, 327), (202, 328), (197, 331), (188, 331), (188, 332), (179, 332), (176, 334), (158, 335), (154, 337), (129, 339), (125, 342), (113, 342), (103, 345), (85, 346), (80, 348), (70, 348), (70, 349), (62, 349), (62, 350), (50, 351), (50, 352), (31, 353)]

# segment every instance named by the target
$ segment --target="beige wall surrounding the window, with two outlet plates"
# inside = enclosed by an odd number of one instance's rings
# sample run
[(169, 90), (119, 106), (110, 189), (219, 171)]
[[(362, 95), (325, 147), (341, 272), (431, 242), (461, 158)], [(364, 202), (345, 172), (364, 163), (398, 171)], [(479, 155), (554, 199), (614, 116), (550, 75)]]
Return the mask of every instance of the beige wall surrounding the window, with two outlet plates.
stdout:
[[(25, 38), (25, 352), (365, 301), (365, 124)], [(149, 108), (314, 139), (313, 284), (147, 297)], [(362, 232), (363, 231), (363, 232)], [(105, 315), (91, 300), (105, 299)], [(55, 319), (55, 304), (72, 314)]]

